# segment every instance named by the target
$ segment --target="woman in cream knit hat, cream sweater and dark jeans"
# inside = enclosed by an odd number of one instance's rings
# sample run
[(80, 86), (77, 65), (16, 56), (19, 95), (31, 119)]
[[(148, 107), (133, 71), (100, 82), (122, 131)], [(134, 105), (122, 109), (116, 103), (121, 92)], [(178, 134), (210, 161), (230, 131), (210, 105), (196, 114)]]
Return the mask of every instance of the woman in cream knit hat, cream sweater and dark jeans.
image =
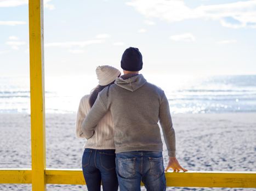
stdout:
[[(121, 72), (109, 65), (96, 68), (99, 85), (89, 95), (82, 97), (76, 118), (76, 136), (84, 138), (82, 122), (92, 108), (98, 94), (115, 82)], [(100, 190), (102, 181), (104, 191), (118, 189), (115, 165), (115, 145), (113, 142), (113, 121), (108, 112), (95, 128), (92, 138), (86, 141), (82, 157), (82, 169), (89, 191)]]

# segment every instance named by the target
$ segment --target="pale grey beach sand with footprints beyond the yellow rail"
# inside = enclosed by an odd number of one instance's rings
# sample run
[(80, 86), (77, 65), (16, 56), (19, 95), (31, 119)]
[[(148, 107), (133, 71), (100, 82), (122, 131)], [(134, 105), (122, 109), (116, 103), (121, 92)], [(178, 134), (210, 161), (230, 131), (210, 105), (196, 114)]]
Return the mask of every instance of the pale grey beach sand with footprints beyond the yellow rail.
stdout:
[[(83, 139), (75, 138), (75, 114), (46, 114), (47, 168), (81, 168)], [(256, 113), (173, 115), (177, 158), (188, 170), (256, 171)], [(31, 168), (30, 115), (0, 115), (0, 168)], [(168, 162), (164, 146), (164, 163)], [(0, 190), (31, 190), (0, 184)], [(87, 190), (47, 185), (47, 190)], [(141, 188), (141, 190), (145, 190)], [(256, 190), (167, 188), (167, 190)]]

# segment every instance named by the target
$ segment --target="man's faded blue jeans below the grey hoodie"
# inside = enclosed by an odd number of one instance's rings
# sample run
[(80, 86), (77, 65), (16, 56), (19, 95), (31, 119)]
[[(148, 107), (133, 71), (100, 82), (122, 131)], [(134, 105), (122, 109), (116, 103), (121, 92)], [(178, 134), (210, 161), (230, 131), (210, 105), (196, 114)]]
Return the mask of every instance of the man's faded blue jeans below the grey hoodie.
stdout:
[(116, 154), (116, 172), (121, 191), (166, 190), (162, 152), (132, 151)]

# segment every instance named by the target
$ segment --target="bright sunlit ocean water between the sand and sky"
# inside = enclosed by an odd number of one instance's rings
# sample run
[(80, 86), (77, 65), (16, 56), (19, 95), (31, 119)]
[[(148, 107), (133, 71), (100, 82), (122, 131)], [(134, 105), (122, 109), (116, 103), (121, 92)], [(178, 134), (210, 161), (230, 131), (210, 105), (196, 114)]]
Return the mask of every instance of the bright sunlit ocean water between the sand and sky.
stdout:
[[(256, 112), (256, 75), (144, 76), (166, 92), (172, 114)], [(45, 77), (46, 112), (75, 113), (96, 85), (94, 75)], [(30, 113), (27, 77), (0, 77), (0, 113)]]

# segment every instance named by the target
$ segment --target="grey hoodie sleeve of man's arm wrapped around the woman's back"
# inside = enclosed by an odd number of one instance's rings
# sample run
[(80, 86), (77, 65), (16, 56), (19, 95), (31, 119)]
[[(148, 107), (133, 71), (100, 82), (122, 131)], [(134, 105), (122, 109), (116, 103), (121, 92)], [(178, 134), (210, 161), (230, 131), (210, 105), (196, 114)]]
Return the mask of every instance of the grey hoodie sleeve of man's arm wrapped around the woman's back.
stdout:
[(107, 108), (101, 100), (100, 96), (98, 96), (95, 103), (93, 104), (92, 109), (82, 123), (82, 131), (86, 136), (86, 139), (89, 139), (93, 136), (95, 127), (106, 113)]

